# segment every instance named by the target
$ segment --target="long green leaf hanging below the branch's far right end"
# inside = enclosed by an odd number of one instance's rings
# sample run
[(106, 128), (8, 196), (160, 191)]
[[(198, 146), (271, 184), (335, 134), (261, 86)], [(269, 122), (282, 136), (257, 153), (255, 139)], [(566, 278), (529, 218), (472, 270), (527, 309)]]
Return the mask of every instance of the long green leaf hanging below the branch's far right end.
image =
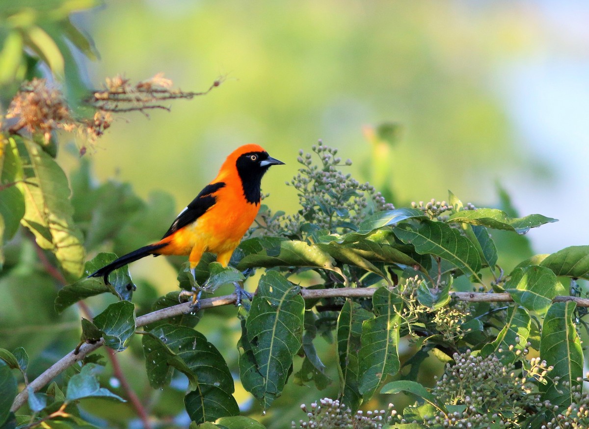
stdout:
[[(574, 302), (553, 303), (542, 324), (540, 357), (554, 369), (550, 371), (547, 384), (540, 385), (541, 401), (567, 407), (574, 401), (572, 388), (580, 385), (577, 378), (583, 377), (583, 349), (574, 324)], [(558, 385), (554, 377), (560, 377)], [(562, 383), (566, 381), (568, 385)]]

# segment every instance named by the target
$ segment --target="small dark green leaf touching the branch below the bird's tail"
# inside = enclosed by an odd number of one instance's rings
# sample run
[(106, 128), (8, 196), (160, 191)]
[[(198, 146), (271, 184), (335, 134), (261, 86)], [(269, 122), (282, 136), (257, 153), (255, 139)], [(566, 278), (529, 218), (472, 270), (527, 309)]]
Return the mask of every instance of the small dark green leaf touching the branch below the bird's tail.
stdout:
[(127, 341), (135, 333), (135, 306), (131, 301), (109, 305), (94, 318), (94, 325), (104, 333), (104, 345), (115, 351), (127, 348)]

